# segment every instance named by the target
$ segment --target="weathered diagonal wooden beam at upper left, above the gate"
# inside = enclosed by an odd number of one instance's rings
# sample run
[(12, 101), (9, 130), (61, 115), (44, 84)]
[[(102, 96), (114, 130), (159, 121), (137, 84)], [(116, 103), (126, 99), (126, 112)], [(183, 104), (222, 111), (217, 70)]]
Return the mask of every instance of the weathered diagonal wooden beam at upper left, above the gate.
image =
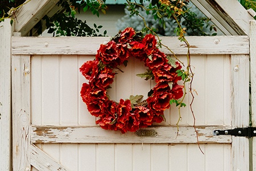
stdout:
[[(27, 0), (28, 1), (28, 0)], [(33, 0), (15, 12), (15, 31), (25, 36), (59, 0)]]

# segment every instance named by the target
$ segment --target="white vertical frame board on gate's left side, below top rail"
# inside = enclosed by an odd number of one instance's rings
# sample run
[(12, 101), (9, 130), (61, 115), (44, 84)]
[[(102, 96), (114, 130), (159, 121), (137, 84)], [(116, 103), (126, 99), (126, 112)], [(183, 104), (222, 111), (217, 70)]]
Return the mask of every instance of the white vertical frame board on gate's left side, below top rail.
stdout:
[(30, 56), (12, 57), (13, 169), (30, 166)]

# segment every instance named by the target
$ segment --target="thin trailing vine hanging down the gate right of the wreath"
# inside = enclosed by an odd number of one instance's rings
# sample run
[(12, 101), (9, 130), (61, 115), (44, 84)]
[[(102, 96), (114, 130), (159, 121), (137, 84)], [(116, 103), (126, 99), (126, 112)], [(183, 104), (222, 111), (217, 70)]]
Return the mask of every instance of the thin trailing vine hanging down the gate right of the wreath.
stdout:
[(128, 10), (130, 11), (131, 15), (138, 15), (143, 19), (144, 22), (144, 28), (143, 31), (144, 32), (150, 32), (151, 34), (154, 34), (156, 37), (158, 37), (158, 41), (159, 41), (159, 46), (160, 47), (166, 47), (171, 53), (172, 55), (175, 57), (176, 60), (178, 60), (181, 64), (184, 65), (183, 62), (181, 62), (175, 55), (174, 52), (171, 51), (171, 49), (169, 47), (167, 47), (166, 45), (164, 45), (161, 40), (160, 37), (158, 36), (158, 34), (156, 34), (156, 30), (155, 28), (151, 28), (149, 26), (147, 26), (146, 24), (146, 20), (144, 18), (144, 16), (142, 16), (139, 13), (138, 7), (142, 8), (144, 10), (146, 10), (147, 14), (149, 14), (149, 11), (152, 11), (152, 14), (154, 14), (154, 18), (155, 20), (158, 20), (159, 23), (162, 24), (163, 27), (166, 27), (165, 25), (165, 20), (163, 20), (164, 16), (167, 16), (167, 18), (172, 18), (176, 21), (177, 23), (177, 28), (175, 29), (176, 35), (178, 36), (178, 39), (180, 41), (183, 41), (186, 45), (187, 45), (187, 66), (185, 67), (185, 69), (179, 69), (177, 70), (177, 75), (181, 76), (181, 79), (183, 80), (183, 86), (184, 86), (184, 94), (183, 97), (181, 97), (180, 100), (177, 99), (171, 99), (170, 100), (170, 104), (175, 103), (176, 106), (178, 107), (179, 110), (179, 119), (177, 120), (176, 126), (177, 126), (177, 135), (179, 134), (179, 122), (181, 120), (181, 107), (185, 107), (185, 103), (184, 103), (184, 99), (185, 96), (187, 95), (187, 86), (186, 83), (189, 82), (189, 86), (188, 86), (188, 90), (189, 93), (191, 94), (192, 100), (189, 103), (189, 108), (191, 110), (192, 116), (193, 116), (193, 128), (196, 132), (196, 137), (197, 137), (197, 144), (199, 146), (199, 149), (202, 153), (204, 153), (202, 151), (202, 149), (200, 148), (200, 144), (199, 144), (199, 133), (196, 130), (196, 118), (195, 118), (195, 114), (192, 108), (193, 105), (193, 101), (195, 99), (195, 95), (194, 95), (194, 89), (192, 88), (192, 83), (193, 83), (193, 76), (194, 73), (192, 71), (191, 68), (191, 54), (190, 54), (190, 45), (188, 40), (185, 38), (185, 30), (186, 28), (181, 26), (181, 17), (184, 16), (184, 14), (186, 14), (188, 12), (187, 7), (185, 7), (188, 3), (188, 1), (168, 1), (168, 0), (159, 0), (158, 3), (150, 3), (148, 6), (144, 7), (142, 5), (139, 5), (136, 2), (131, 2), (130, 0), (126, 0), (127, 2), (127, 7)]

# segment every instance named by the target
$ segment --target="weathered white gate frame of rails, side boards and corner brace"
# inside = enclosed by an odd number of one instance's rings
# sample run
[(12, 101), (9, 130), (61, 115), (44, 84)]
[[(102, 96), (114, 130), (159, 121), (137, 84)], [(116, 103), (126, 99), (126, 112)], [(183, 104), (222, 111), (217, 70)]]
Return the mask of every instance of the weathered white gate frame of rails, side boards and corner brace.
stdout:
[[(187, 47), (176, 37), (162, 37), (162, 43), (172, 47), (176, 55), (187, 54)], [(212, 131), (249, 125), (249, 37), (214, 36), (187, 37), (191, 55), (231, 55), (232, 127), (197, 127), (200, 143), (232, 143), (233, 170), (249, 170), (249, 140), (246, 137), (213, 136)], [(92, 41), (93, 40), (93, 41)], [(54, 161), (35, 143), (196, 143), (192, 127), (157, 127), (162, 132), (154, 137), (138, 137), (134, 133), (120, 136), (119, 132), (100, 127), (33, 126), (31, 125), (30, 72), (31, 55), (95, 55), (98, 46), (109, 37), (13, 37), (12, 90), (13, 90), (13, 163), (14, 170), (67, 170)], [(69, 49), (67, 49), (67, 42)], [(82, 44), (80, 49), (77, 44)], [(166, 49), (162, 52), (167, 53)], [(235, 69), (234, 69), (235, 68)], [(241, 101), (241, 99), (243, 99)], [(94, 131), (97, 130), (97, 131)], [(100, 132), (95, 135), (94, 132)], [(244, 157), (245, 156), (245, 157)]]

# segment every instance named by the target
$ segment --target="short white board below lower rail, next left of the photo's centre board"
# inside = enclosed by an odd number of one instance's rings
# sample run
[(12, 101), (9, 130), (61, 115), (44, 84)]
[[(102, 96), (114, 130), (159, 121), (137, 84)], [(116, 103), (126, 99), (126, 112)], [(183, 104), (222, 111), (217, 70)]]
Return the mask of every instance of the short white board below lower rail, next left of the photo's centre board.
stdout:
[(114, 144), (97, 144), (96, 170), (114, 170)]

